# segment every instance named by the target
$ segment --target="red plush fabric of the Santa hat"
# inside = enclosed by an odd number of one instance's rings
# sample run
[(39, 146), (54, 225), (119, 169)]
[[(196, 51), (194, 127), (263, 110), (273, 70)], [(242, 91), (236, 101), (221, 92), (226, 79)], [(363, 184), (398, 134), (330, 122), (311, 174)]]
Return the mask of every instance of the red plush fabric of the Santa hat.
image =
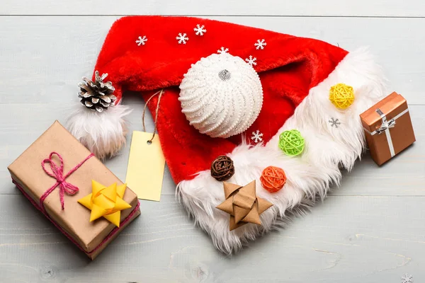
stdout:
[[(205, 25), (203, 36), (195, 35), (196, 25)], [(176, 36), (186, 33), (186, 45)], [(137, 46), (139, 36), (147, 37)], [(256, 40), (264, 39), (264, 50), (256, 50)], [(157, 127), (162, 149), (176, 183), (189, 180), (210, 168), (219, 155), (240, 144), (241, 136), (211, 138), (191, 127), (181, 113), (179, 84), (191, 64), (217, 53), (220, 47), (245, 59), (257, 58), (254, 67), (263, 86), (263, 108), (254, 124), (246, 130), (246, 141), (257, 129), (267, 142), (288, 119), (310, 88), (327, 78), (347, 52), (327, 42), (274, 33), (243, 25), (201, 18), (128, 16), (116, 21), (106, 37), (95, 70), (108, 73), (115, 96), (123, 91), (140, 91), (149, 98), (166, 88), (159, 107)], [(157, 98), (149, 109), (154, 112)]]

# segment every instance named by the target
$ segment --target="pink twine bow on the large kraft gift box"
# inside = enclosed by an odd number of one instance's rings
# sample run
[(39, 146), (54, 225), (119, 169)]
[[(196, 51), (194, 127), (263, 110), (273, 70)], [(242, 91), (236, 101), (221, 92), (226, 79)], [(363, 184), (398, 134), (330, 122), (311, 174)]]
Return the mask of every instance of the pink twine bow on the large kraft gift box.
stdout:
[[(53, 155), (56, 155), (59, 158), (60, 166), (57, 166), (57, 164), (53, 162), (52, 160)], [(45, 171), (45, 173), (49, 175), (50, 177), (55, 178), (57, 180), (55, 185), (52, 185), (52, 187), (50, 187), (49, 190), (46, 190), (44, 194), (42, 194), (42, 196), (40, 197), (40, 208), (42, 210), (44, 210), (43, 202), (45, 201), (46, 197), (50, 195), (50, 193), (53, 192), (57, 186), (59, 186), (60, 204), (61, 204), (62, 210), (64, 210), (64, 194), (67, 193), (67, 195), (75, 195), (79, 191), (79, 188), (77, 186), (72, 185), (71, 183), (68, 183), (66, 179), (69, 177), (69, 175), (77, 171), (77, 169), (80, 168), (80, 166), (83, 165), (83, 163), (89, 160), (89, 158), (91, 158), (92, 156), (94, 156), (94, 154), (90, 154), (89, 156), (87, 156), (83, 161), (77, 164), (77, 166), (72, 168), (71, 171), (69, 171), (65, 175), (64, 175), (64, 160), (62, 159), (62, 156), (60, 156), (60, 154), (57, 154), (56, 152), (52, 152), (49, 158), (45, 158), (45, 160), (41, 162), (42, 169)], [(52, 172), (47, 171), (47, 169), (45, 168), (46, 163), (50, 163), (50, 169), (52, 170)]]

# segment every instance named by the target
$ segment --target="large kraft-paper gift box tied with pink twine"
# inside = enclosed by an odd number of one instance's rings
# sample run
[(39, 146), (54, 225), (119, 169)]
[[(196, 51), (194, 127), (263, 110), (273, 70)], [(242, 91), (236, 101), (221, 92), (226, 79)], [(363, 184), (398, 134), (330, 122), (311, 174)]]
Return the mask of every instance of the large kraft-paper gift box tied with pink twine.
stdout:
[[(40, 197), (44, 192), (57, 182), (55, 178), (47, 175), (41, 166), (42, 161), (49, 158), (52, 151), (62, 156), (64, 175), (91, 154), (56, 121), (16, 161), (13, 161), (8, 166), (13, 181), (36, 206), (40, 203)], [(60, 165), (57, 156), (54, 156), (52, 160), (57, 166)], [(45, 167), (51, 172), (48, 164)], [(123, 200), (128, 202), (131, 208), (121, 211), (119, 228), (103, 217), (90, 222), (90, 209), (79, 204), (77, 200), (91, 193), (91, 180), (96, 180), (103, 185), (123, 184), (98, 158), (93, 156), (65, 180), (77, 186), (79, 192), (76, 195), (65, 193), (64, 210), (60, 204), (59, 186), (46, 197), (44, 208), (47, 218), (93, 260), (125, 226), (140, 215), (140, 209), (137, 195), (127, 188)]]

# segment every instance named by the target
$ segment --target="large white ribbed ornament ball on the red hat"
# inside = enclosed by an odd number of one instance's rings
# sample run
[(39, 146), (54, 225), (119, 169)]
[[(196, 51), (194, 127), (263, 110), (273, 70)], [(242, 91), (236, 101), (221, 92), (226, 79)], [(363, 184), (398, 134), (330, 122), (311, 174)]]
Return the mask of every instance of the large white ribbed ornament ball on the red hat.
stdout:
[(248, 129), (259, 116), (259, 75), (240, 57), (212, 54), (192, 64), (180, 84), (182, 112), (202, 134), (227, 138)]

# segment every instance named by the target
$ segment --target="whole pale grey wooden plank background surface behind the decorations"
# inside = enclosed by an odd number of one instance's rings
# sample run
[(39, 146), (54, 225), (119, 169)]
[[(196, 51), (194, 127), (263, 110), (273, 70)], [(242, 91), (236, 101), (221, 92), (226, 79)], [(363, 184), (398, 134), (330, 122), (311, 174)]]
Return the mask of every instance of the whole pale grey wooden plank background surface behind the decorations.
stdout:
[[(310, 214), (233, 257), (193, 226), (167, 171), (161, 202), (142, 201), (140, 218), (91, 262), (31, 207), (6, 167), (66, 120), (108, 29), (129, 14), (202, 16), (347, 50), (369, 45), (409, 102), (416, 144), (382, 168), (366, 154)], [(398, 283), (404, 273), (425, 282), (424, 17), (419, 0), (1, 0), (0, 282)], [(123, 103), (141, 129), (142, 100)], [(106, 162), (123, 180), (128, 151)]]

